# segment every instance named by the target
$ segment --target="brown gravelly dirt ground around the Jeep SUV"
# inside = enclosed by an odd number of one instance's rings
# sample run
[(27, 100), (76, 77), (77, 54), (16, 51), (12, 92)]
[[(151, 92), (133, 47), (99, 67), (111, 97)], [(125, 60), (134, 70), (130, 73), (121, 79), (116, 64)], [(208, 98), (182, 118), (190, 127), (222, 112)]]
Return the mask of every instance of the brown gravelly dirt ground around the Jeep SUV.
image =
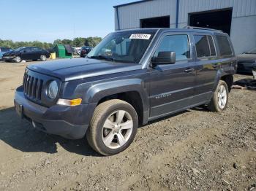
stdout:
[(256, 91), (232, 90), (223, 113), (195, 108), (151, 122), (126, 151), (102, 157), (84, 139), (18, 118), (27, 64), (0, 63), (0, 190), (256, 190)]

